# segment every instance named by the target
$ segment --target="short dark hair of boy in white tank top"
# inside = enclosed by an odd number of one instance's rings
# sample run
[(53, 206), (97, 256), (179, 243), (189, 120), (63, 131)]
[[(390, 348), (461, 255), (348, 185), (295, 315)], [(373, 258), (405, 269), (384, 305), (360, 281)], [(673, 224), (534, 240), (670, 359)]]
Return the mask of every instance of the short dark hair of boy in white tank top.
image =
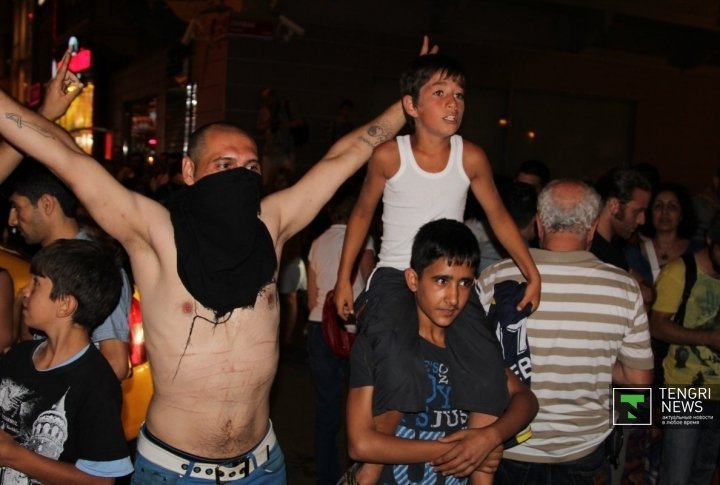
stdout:
[[(454, 79), (465, 87), (465, 68), (460, 62), (444, 54), (428, 54), (416, 57), (405, 66), (400, 75), (400, 97), (410, 96), (413, 105), (416, 105), (420, 89), (438, 72), (442, 73), (443, 78)], [(411, 126), (415, 126), (414, 119), (407, 113), (405, 119)]]

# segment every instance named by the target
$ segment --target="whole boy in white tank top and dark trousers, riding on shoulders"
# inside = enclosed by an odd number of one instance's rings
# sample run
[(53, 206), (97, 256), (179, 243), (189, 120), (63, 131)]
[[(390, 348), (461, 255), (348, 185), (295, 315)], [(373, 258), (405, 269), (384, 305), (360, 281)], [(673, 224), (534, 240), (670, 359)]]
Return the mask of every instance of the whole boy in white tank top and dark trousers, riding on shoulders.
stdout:
[[(374, 356), (392, 355), (388, 348), (396, 342), (406, 347), (417, 340), (414, 327), (407, 325), (415, 318), (416, 310), (404, 277), (410, 266), (413, 238), (429, 221), (462, 221), (468, 188), (472, 188), (499, 241), (527, 278), (518, 308), (535, 309), (539, 303), (540, 276), (498, 196), (490, 164), (479, 147), (456, 134), (465, 108), (464, 85), (462, 66), (448, 56), (429, 54), (410, 63), (400, 86), (405, 116), (415, 133), (387, 141), (376, 149), (348, 221), (335, 305), (343, 317), (357, 310), (360, 332), (366, 335)], [(379, 262), (353, 309), (350, 275), (381, 197), (383, 235)], [(499, 348), (494, 331), (487, 332), (488, 325), (476, 292), (470, 292), (467, 305), (445, 331), (450, 366), (455, 380), (463, 382), (455, 388), (454, 397), (465, 409), (482, 405), (488, 388), (506, 385), (502, 354), (484, 350), (488, 346)], [(377, 357), (373, 362), (373, 384), (376, 389), (386, 390), (373, 394), (374, 409), (408, 411), (424, 406), (422, 386), (426, 374), (422, 366), (414, 365), (411, 353), (398, 354), (391, 360)], [(480, 379), (473, 378), (477, 369), (484, 370)]]

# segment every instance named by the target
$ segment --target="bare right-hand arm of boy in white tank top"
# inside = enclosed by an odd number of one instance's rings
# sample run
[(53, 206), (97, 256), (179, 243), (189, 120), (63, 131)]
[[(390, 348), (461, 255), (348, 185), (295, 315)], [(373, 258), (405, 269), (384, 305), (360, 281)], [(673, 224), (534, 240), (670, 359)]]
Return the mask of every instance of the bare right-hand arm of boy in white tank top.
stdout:
[(473, 194), (487, 214), (495, 236), (527, 280), (525, 295), (518, 304), (518, 309), (525, 308), (528, 303), (531, 303), (532, 309), (535, 311), (540, 304), (540, 273), (538, 273), (517, 225), (500, 199), (485, 153), (472, 143), (466, 143), (463, 150), (465, 170), (470, 177)]

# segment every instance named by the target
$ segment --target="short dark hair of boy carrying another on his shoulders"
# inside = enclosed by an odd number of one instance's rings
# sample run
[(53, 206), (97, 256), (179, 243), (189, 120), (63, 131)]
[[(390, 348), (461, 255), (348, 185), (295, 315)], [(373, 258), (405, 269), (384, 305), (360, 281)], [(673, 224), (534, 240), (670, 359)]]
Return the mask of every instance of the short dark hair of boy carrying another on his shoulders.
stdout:
[(440, 258), (451, 266), (470, 266), (477, 276), (480, 247), (465, 224), (451, 219), (437, 219), (418, 230), (413, 241), (410, 267), (421, 275), (425, 268)]

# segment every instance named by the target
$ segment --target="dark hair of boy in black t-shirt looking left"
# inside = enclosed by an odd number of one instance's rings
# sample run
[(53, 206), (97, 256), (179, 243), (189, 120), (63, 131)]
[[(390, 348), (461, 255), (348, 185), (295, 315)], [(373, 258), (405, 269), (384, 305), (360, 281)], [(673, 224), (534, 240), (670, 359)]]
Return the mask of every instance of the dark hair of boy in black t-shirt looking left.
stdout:
[(122, 277), (113, 254), (96, 241), (58, 239), (30, 261), (30, 273), (52, 281), (50, 299), (73, 296), (73, 322), (92, 332), (120, 300)]

